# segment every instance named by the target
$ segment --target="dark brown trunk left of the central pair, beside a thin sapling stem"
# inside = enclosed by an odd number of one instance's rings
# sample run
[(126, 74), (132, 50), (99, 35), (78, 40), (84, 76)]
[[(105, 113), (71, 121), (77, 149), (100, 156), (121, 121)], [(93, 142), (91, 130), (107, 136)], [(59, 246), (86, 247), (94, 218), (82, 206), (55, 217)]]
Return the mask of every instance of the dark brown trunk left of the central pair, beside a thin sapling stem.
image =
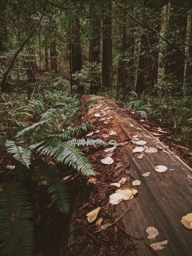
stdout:
[(76, 26), (71, 30), (72, 73), (82, 69), (82, 54), (80, 40), (79, 18), (76, 18)]

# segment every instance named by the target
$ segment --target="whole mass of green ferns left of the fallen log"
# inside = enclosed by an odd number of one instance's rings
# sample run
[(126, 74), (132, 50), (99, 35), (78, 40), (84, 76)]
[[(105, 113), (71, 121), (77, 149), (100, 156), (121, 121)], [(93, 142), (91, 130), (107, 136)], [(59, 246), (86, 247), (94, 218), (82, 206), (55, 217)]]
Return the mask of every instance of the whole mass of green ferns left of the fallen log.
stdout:
[[(93, 129), (92, 124), (74, 126), (71, 117), (79, 110), (76, 99), (62, 92), (45, 92), (46, 102), (37, 96), (29, 105), (1, 105), (0, 240), (1, 255), (33, 254), (34, 207), (30, 182), (46, 184), (62, 213), (70, 211), (70, 196), (57, 163), (95, 175), (80, 145), (103, 144), (77, 135)], [(6, 97), (6, 96), (4, 96)], [(3, 101), (2, 101), (3, 102)], [(18, 104), (18, 102), (17, 102)]]

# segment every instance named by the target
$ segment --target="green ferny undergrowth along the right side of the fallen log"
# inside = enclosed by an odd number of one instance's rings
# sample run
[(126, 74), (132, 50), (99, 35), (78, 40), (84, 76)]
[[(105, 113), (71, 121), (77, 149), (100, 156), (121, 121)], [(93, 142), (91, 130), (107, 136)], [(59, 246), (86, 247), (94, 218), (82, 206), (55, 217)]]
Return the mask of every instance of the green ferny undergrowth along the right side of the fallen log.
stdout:
[(125, 102), (128, 108), (136, 111), (149, 121), (169, 129), (173, 135), (181, 138), (185, 144), (192, 145), (192, 98), (171, 94), (150, 96), (135, 92), (130, 93)]

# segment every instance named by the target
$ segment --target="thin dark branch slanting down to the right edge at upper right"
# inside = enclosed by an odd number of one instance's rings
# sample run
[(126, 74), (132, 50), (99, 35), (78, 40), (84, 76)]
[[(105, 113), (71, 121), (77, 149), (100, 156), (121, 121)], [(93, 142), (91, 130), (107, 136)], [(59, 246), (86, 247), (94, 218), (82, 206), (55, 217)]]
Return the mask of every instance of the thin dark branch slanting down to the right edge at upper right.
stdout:
[(163, 41), (165, 41), (168, 45), (170, 45), (173, 49), (178, 50), (179, 52), (181, 52), (181, 54), (183, 55), (183, 57), (190, 62), (190, 65), (192, 65), (191, 61), (189, 60), (189, 58), (185, 55), (185, 53), (176, 45), (173, 45), (172, 43), (170, 43), (165, 37), (163, 37), (157, 30), (152, 29), (151, 27), (146, 26), (145, 24), (143, 24), (142, 22), (140, 22), (139, 20), (135, 19), (130, 13), (128, 13), (120, 4), (118, 4), (115, 0), (113, 0), (114, 3), (117, 4), (117, 6), (119, 6), (120, 9), (122, 9), (126, 14), (128, 14), (128, 16), (134, 20), (135, 22), (139, 23), (141, 26), (145, 27), (146, 29), (156, 33)]

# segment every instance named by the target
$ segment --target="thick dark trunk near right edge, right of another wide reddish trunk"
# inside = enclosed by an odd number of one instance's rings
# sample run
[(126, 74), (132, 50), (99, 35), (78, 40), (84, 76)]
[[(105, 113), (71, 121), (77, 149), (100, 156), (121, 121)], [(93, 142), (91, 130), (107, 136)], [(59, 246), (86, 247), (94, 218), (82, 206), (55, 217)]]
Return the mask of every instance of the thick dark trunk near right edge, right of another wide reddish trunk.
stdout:
[[(171, 36), (172, 43), (178, 45), (185, 52), (185, 39), (187, 27), (186, 8), (183, 6), (183, 0), (172, 1), (171, 9), (173, 16), (169, 17), (168, 30), (173, 33)], [(168, 60), (165, 65), (165, 74), (172, 74), (178, 81), (177, 88), (172, 92), (181, 91), (184, 82), (185, 60), (179, 50), (168, 48)]]

